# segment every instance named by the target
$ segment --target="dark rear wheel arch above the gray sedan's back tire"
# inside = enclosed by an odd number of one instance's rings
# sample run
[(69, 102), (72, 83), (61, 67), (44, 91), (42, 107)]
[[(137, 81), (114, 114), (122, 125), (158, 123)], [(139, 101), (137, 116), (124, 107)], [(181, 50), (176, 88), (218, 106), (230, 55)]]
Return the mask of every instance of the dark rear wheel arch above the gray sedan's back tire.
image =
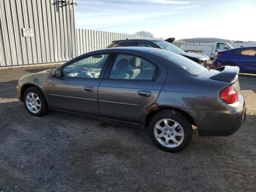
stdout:
[(190, 124), (196, 126), (196, 122), (194, 120), (194, 118), (192, 118), (192, 116), (190, 114), (188, 114), (187, 112), (185, 112), (182, 109), (176, 108), (176, 107), (172, 107), (172, 106), (158, 106), (157, 108), (155, 107), (150, 107), (150, 109), (145, 110), (145, 114), (144, 114), (144, 120), (142, 122), (142, 124), (144, 124), (145, 127), (148, 126), (151, 118), (158, 112), (162, 111), (162, 110), (175, 110), (180, 112), (182, 115), (184, 115), (184, 117), (190, 122)]

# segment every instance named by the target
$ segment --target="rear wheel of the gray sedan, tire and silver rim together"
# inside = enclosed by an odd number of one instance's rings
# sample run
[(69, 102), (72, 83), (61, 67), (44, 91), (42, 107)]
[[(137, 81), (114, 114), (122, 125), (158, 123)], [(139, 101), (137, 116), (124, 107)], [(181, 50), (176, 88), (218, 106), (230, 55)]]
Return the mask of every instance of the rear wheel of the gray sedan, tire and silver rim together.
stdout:
[(150, 120), (148, 132), (154, 144), (168, 152), (184, 150), (192, 139), (190, 122), (174, 110), (163, 110), (155, 114)]

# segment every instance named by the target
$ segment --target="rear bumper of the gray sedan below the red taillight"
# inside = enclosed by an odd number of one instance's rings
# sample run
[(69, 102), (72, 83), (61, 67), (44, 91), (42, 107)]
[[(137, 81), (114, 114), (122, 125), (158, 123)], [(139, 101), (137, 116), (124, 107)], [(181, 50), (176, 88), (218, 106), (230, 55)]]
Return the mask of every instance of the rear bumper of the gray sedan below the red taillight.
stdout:
[(196, 121), (199, 136), (229, 136), (234, 134), (246, 118), (243, 96), (234, 104), (222, 102), (214, 110), (186, 110)]

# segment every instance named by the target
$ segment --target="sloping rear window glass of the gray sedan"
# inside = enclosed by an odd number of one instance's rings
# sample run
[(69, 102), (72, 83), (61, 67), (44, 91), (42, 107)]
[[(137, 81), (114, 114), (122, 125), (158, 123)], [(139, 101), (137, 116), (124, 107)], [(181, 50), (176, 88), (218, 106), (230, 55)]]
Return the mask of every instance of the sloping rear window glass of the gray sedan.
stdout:
[(208, 69), (204, 68), (202, 65), (200, 65), (184, 56), (181, 56), (179, 54), (170, 53), (170, 52), (164, 51), (164, 50), (154, 51), (151, 54), (158, 56), (160, 58), (163, 58), (163, 59), (179, 66), (180, 68), (189, 72), (192, 75), (198, 75), (198, 74), (208, 71)]

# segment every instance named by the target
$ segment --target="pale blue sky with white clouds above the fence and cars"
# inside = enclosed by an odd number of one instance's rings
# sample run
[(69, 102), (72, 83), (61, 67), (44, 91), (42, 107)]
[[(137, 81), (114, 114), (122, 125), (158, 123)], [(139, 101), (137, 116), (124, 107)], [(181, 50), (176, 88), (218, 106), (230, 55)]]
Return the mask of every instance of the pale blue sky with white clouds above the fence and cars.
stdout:
[(76, 27), (256, 41), (256, 0), (76, 0)]

